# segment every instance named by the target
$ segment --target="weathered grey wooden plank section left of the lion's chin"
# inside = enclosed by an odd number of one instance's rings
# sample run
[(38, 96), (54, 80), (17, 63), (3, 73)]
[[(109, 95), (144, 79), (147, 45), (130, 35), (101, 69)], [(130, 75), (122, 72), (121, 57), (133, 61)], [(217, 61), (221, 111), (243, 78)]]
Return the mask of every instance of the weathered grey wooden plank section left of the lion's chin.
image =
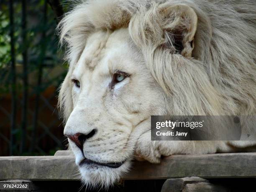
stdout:
[(74, 156), (0, 157), (0, 180), (78, 180)]

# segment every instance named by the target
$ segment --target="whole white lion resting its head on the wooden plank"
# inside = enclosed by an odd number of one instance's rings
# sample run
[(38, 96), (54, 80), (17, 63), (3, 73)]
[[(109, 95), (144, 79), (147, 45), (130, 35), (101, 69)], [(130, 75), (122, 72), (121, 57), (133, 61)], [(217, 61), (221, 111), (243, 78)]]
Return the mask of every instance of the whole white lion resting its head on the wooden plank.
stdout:
[(151, 115), (256, 114), (255, 0), (87, 0), (59, 24), (64, 134), (85, 183), (131, 160), (236, 152), (254, 141), (151, 141)]

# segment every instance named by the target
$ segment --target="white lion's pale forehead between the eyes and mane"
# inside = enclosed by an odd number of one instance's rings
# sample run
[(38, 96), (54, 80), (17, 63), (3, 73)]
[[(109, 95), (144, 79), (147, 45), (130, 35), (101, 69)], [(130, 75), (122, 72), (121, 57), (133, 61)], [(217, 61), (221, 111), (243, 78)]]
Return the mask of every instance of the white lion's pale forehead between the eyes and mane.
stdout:
[[(133, 66), (132, 63), (141, 63), (135, 60), (142, 58), (138, 57), (137, 50), (133, 49), (134, 44), (127, 28), (92, 33), (74, 67), (73, 74), (76, 77), (90, 76), (92, 80), (94, 76), (107, 76), (117, 70), (132, 73), (136, 66), (138, 67), (138, 64)], [(134, 62), (131, 62), (132, 60)]]

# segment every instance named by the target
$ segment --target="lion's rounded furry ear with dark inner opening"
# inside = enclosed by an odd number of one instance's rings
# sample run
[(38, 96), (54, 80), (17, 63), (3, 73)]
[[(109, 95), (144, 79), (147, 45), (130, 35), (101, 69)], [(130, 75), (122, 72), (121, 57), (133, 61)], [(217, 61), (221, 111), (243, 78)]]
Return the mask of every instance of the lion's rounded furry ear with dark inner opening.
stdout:
[(192, 56), (197, 30), (197, 14), (187, 5), (159, 5), (160, 25), (166, 48), (185, 57)]

